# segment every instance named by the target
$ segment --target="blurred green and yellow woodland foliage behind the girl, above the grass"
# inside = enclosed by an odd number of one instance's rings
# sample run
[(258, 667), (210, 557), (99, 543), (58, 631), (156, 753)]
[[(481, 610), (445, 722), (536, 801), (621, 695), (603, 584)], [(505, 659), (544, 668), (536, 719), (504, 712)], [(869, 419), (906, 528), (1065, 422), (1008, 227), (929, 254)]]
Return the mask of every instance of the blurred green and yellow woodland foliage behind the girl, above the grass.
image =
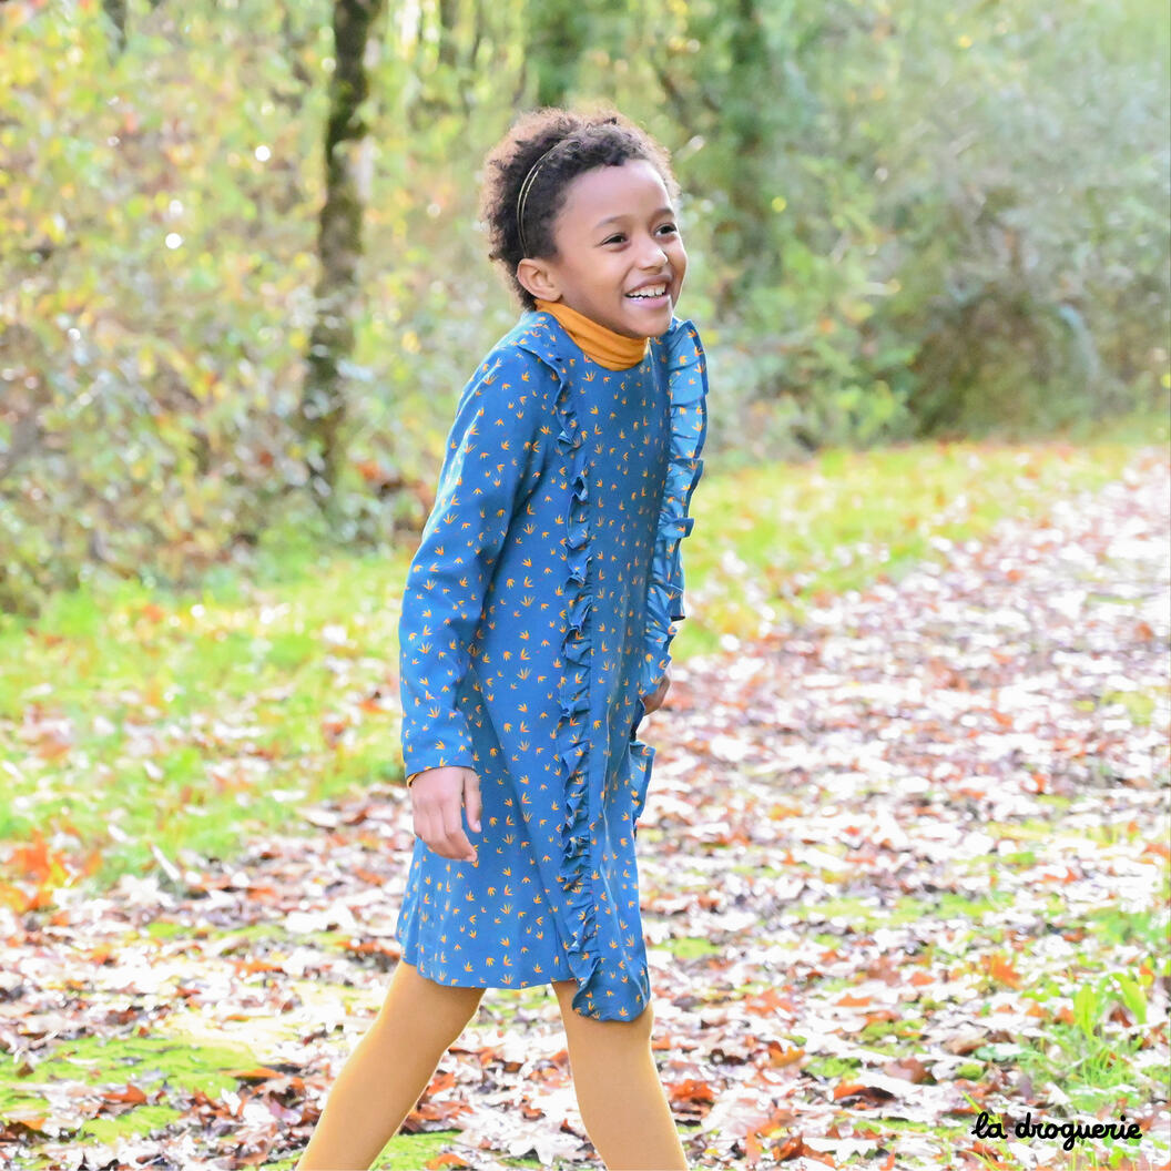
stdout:
[(294, 422), (329, 4), (131, 0), (121, 48), (96, 0), (0, 6), (0, 608), (417, 527), (459, 388), (518, 311), (478, 162), (539, 94), (614, 102), (673, 151), (713, 460), (1162, 402), (1163, 4), (562, 9), (574, 55), (534, 0), (391, 6), (327, 523)]

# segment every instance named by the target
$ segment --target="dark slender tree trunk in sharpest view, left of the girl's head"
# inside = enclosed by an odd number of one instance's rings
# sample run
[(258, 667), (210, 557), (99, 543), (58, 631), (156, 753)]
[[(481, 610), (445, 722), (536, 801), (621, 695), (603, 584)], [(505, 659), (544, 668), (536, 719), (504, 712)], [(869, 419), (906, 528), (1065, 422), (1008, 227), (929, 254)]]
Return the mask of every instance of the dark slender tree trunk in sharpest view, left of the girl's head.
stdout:
[(335, 0), (336, 66), (329, 83), (326, 126), (326, 201), (317, 230), (321, 275), (317, 316), (309, 338), (301, 397), (301, 433), (308, 448), (309, 482), (319, 504), (335, 498), (344, 459), (341, 429), (345, 423), (342, 364), (354, 351), (357, 268), (362, 255), (363, 152), (369, 150), (361, 107), (369, 94), (365, 70), (370, 28), (384, 0)]

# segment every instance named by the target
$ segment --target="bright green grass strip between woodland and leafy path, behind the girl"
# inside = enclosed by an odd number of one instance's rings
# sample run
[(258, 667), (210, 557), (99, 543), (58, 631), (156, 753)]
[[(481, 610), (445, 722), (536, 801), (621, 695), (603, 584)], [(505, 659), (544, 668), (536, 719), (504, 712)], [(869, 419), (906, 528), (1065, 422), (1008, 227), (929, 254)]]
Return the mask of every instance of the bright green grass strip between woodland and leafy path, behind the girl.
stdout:
[[(1080, 445), (918, 444), (708, 470), (674, 657), (1093, 489), (1166, 431), (1128, 423)], [(0, 616), (0, 841), (41, 831), (52, 845), (25, 856), (26, 871), (105, 884), (153, 868), (152, 847), (180, 864), (184, 851), (230, 856), (295, 828), (302, 803), (400, 780), (382, 697), (398, 686), (410, 554), (319, 563), (294, 542), (266, 548), (251, 580), (220, 567), (183, 594), (95, 582), (49, 598), (35, 622)], [(1103, 697), (1148, 717), (1156, 701)]]

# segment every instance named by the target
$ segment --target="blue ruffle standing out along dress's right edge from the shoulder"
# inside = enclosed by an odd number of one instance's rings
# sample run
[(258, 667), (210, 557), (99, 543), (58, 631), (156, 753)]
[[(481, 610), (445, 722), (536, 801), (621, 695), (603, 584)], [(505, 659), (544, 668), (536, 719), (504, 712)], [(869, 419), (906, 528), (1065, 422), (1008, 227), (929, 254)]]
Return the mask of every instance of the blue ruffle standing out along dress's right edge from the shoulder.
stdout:
[(646, 589), (646, 632), (639, 694), (649, 696), (671, 665), (671, 641), (683, 608), (680, 545), (696, 521), (687, 515), (691, 495), (703, 475), (700, 452), (707, 434), (707, 369), (699, 334), (679, 322), (664, 338), (671, 404), (671, 451), (659, 508), (658, 530)]

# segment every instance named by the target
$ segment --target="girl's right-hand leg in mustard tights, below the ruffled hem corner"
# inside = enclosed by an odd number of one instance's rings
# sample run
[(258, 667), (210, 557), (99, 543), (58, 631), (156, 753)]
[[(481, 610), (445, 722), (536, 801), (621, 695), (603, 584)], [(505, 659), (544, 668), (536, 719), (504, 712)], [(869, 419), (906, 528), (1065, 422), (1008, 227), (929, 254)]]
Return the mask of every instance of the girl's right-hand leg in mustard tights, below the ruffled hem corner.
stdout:
[(575, 980), (554, 980), (553, 988), (577, 1107), (607, 1171), (686, 1171), (651, 1053), (651, 1006), (632, 1021), (596, 1021), (571, 1007)]

